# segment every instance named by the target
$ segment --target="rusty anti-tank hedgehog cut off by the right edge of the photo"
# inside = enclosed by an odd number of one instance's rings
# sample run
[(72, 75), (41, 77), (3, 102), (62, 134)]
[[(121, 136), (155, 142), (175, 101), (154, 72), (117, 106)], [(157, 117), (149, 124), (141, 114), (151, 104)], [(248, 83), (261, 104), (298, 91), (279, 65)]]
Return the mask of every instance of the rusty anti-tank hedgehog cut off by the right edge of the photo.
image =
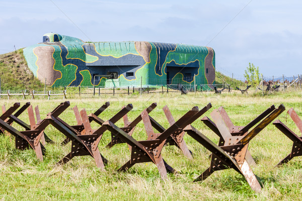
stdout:
[[(292, 121), (295, 123), (296, 127), (302, 133), (302, 121), (293, 108), (287, 111)], [(285, 126), (280, 120), (276, 120), (273, 125), (276, 126), (283, 134), (285, 134), (292, 142), (292, 148), (290, 154), (288, 154), (285, 158), (280, 160), (276, 166), (282, 165), (290, 161), (293, 157), (302, 155), (302, 137), (296, 135), (293, 131), (291, 131), (287, 126)]]

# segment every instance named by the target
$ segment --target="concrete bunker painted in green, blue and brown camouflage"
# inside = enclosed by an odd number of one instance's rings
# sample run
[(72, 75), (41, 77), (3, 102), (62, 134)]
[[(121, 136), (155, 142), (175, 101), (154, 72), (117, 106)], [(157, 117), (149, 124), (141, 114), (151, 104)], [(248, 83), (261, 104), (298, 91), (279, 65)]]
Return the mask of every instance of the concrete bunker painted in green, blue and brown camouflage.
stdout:
[(210, 47), (144, 41), (91, 43), (49, 33), (42, 43), (23, 51), (34, 75), (41, 81), (46, 78), (51, 86), (215, 82), (215, 53)]

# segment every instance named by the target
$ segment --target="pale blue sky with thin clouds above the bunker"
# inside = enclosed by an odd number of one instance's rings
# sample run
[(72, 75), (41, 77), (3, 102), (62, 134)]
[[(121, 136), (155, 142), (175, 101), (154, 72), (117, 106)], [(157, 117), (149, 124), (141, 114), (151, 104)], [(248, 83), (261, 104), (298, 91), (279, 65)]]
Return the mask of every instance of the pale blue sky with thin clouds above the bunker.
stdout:
[(46, 33), (83, 41), (149, 41), (212, 47), (216, 69), (241, 78), (302, 74), (301, 1), (0, 0), (0, 54)]

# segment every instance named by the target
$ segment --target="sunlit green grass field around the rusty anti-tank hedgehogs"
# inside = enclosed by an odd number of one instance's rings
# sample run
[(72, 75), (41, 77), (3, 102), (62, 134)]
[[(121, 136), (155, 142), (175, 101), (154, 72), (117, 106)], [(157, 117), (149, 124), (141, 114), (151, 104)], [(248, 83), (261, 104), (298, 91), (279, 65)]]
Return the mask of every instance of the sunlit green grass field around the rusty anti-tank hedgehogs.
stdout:
[[(77, 105), (79, 109), (85, 108), (88, 113), (92, 113), (109, 101), (110, 107), (100, 115), (102, 119), (109, 119), (123, 105), (131, 103), (133, 110), (128, 113), (131, 121), (143, 109), (156, 102), (158, 107), (150, 116), (168, 128), (169, 124), (162, 111), (165, 105), (169, 106), (175, 119), (179, 119), (193, 106), (201, 109), (211, 103), (212, 109), (202, 117), (210, 117), (213, 109), (223, 106), (234, 125), (244, 126), (271, 105), (278, 107), (283, 104), (286, 111), (293, 107), (302, 117), (301, 97), (301, 91), (279, 92), (264, 97), (239, 93), (216, 95), (212, 92), (196, 95), (157, 93), (87, 97), (68, 99), (70, 107), (60, 118), (75, 125), (71, 110), (73, 106)], [(0, 100), (0, 104), (6, 104), (7, 108), (15, 102), (20, 100)], [(33, 106), (39, 105), (41, 118), (44, 118), (60, 102), (61, 100), (41, 99), (31, 103)], [(298, 134), (298, 129), (286, 115), (286, 111), (278, 119)], [(21, 119), (29, 123), (26, 115), (22, 114)], [(119, 121), (117, 125), (122, 126), (123, 123)], [(218, 137), (200, 120), (192, 125), (213, 142), (218, 142)], [(93, 127), (96, 128), (97, 125)], [(117, 172), (116, 169), (129, 160), (129, 150), (126, 144), (116, 145), (112, 149), (104, 148), (110, 140), (108, 131), (99, 145), (100, 152), (109, 160), (106, 172), (99, 171), (93, 158), (89, 156), (75, 157), (67, 164), (57, 166), (56, 162), (70, 151), (70, 144), (60, 146), (64, 137), (52, 126), (48, 126), (45, 133), (56, 143), (46, 144), (47, 152), (43, 162), (36, 159), (33, 150), (16, 150), (13, 139), (0, 136), (0, 200), (299, 200), (302, 193), (302, 157), (296, 157), (281, 167), (274, 167), (290, 152), (292, 142), (272, 124), (249, 145), (257, 163), (252, 169), (263, 184), (261, 193), (252, 191), (244, 177), (233, 169), (216, 171), (203, 182), (192, 182), (208, 168), (210, 152), (188, 135), (184, 139), (193, 152), (193, 159), (184, 157), (176, 147), (165, 147), (163, 157), (178, 173), (169, 174), (167, 180), (162, 180), (157, 167), (152, 163), (136, 164), (128, 172)], [(133, 137), (137, 140), (146, 139), (142, 123), (136, 127)]]

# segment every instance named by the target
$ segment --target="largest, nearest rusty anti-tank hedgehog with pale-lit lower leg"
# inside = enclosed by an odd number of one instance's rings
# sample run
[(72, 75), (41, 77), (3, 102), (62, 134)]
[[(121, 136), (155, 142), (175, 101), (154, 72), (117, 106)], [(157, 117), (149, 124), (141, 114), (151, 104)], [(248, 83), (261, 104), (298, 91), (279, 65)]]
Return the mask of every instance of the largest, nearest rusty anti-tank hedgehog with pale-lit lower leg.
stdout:
[[(184, 131), (212, 152), (210, 167), (196, 178), (195, 181), (206, 179), (214, 171), (234, 168), (246, 178), (253, 190), (260, 192), (261, 185), (248, 163), (248, 160), (251, 159), (251, 156), (248, 153), (248, 145), (260, 131), (284, 110), (285, 108), (283, 105), (280, 105), (277, 109), (272, 106), (246, 127), (234, 126), (223, 108), (214, 110), (211, 113), (214, 122), (211, 122), (208, 118), (203, 118), (202, 121), (220, 137), (218, 146), (212, 143), (194, 127), (187, 126)], [(248, 132), (248, 129), (255, 126), (263, 118), (264, 120), (262, 122)], [(245, 131), (245, 133), (243, 133), (243, 131)]]

